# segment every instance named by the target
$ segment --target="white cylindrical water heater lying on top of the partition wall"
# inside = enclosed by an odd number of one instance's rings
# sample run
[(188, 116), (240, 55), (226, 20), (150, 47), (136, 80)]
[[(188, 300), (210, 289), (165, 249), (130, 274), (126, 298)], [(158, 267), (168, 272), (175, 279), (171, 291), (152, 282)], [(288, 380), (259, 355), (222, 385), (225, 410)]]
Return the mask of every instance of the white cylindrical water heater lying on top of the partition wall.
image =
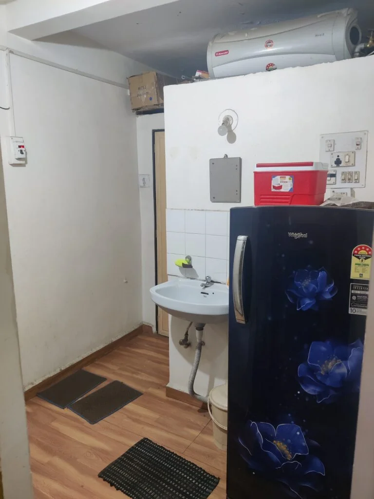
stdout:
[(207, 52), (211, 78), (349, 59), (361, 41), (357, 10), (217, 34)]

